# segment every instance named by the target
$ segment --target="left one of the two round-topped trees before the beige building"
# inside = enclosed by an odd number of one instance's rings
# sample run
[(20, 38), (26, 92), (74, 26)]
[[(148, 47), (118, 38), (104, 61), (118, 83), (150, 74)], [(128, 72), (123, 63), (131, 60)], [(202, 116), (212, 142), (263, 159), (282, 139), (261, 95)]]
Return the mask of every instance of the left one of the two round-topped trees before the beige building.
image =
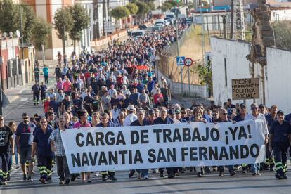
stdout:
[(69, 8), (58, 8), (53, 16), (53, 20), (54, 28), (58, 31), (58, 38), (63, 40), (63, 53), (65, 53), (65, 39), (67, 38), (67, 33), (70, 33), (73, 27), (72, 15)]

